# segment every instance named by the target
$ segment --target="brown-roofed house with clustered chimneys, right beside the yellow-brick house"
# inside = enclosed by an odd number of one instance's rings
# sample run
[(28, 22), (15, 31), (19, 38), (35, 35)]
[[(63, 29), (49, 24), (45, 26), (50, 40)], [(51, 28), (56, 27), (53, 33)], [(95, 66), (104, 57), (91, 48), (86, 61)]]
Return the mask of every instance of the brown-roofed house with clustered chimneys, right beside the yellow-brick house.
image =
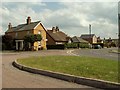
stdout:
[(68, 43), (70, 37), (56, 26), (52, 27), (52, 30), (47, 30), (46, 38), (48, 40), (47, 45), (64, 45)]

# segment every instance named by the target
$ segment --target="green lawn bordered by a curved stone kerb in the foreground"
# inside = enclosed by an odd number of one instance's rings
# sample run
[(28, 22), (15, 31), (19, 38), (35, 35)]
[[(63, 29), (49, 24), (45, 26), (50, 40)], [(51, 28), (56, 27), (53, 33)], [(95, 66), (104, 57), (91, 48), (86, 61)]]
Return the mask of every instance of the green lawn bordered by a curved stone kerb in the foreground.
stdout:
[(118, 61), (79, 56), (40, 56), (18, 62), (44, 70), (118, 82)]

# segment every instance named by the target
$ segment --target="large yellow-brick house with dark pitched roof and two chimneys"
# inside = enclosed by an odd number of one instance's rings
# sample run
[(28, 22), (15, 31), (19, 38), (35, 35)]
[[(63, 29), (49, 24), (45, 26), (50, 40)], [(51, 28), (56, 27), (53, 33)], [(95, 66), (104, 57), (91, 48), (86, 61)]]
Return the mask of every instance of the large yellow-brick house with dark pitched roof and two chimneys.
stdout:
[(12, 36), (15, 39), (16, 50), (23, 50), (24, 40), (26, 35), (41, 34), (42, 40), (34, 43), (34, 49), (38, 50), (40, 47), (46, 49), (46, 29), (40, 21), (31, 22), (31, 18), (26, 19), (25, 24), (19, 24), (12, 27), (9, 23), (8, 30), (5, 34)]

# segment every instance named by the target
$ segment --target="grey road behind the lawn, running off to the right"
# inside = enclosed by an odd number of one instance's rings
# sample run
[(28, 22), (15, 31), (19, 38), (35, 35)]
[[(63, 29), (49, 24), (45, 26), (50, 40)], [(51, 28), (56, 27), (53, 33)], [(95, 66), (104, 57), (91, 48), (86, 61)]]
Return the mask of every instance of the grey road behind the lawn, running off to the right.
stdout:
[(118, 60), (118, 56), (120, 54), (110, 53), (109, 52), (110, 50), (117, 50), (117, 48), (76, 49), (71, 51), (71, 53), (77, 56), (89, 56), (89, 57), (106, 58), (110, 60)]

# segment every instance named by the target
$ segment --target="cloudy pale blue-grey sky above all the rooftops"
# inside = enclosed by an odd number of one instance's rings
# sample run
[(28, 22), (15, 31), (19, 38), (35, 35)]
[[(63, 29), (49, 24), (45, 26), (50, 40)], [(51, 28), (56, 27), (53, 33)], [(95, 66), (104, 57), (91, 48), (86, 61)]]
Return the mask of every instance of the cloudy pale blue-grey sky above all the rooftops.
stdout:
[[(19, 0), (18, 0), (19, 1)], [(94, 1), (94, 0), (92, 0)], [(46, 29), (58, 26), (60, 31), (68, 36), (89, 34), (89, 24), (92, 33), (101, 38), (118, 38), (118, 2), (59, 0), (43, 2), (39, 0), (28, 2), (9, 2), (5, 0), (0, 7), (0, 34), (12, 26), (26, 23), (28, 16), (31, 21), (41, 21)]]

